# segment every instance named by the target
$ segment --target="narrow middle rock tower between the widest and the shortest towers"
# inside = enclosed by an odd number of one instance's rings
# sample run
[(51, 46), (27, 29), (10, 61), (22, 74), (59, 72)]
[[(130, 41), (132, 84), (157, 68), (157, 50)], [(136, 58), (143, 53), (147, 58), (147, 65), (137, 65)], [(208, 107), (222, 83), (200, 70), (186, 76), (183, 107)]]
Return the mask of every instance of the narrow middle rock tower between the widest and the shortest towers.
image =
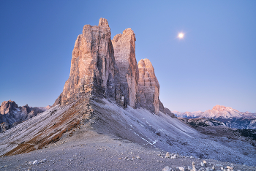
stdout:
[(117, 34), (113, 40), (116, 64), (120, 72), (121, 87), (124, 88), (124, 100), (136, 108), (138, 103), (139, 69), (135, 57), (135, 33), (131, 28)]

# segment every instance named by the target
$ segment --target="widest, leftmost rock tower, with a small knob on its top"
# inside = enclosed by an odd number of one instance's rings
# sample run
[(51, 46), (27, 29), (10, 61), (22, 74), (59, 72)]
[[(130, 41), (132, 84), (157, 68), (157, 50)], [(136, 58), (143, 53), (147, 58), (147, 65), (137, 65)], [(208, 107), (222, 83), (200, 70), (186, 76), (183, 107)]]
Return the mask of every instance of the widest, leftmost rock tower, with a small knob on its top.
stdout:
[(86, 93), (102, 94), (124, 104), (118, 66), (114, 58), (108, 20), (99, 19), (99, 26), (86, 25), (75, 41), (69, 79), (53, 104), (74, 102)]

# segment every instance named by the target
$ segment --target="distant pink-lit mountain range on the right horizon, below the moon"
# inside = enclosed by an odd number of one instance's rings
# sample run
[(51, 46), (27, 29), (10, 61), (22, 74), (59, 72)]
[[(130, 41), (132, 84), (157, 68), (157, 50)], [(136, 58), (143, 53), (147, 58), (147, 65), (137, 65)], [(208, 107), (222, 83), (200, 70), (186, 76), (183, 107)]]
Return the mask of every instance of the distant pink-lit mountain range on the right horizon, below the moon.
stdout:
[(239, 112), (232, 107), (216, 105), (212, 110), (205, 112), (185, 112), (172, 111), (179, 118), (213, 118), (220, 121), (229, 128), (236, 129), (256, 129), (256, 113)]

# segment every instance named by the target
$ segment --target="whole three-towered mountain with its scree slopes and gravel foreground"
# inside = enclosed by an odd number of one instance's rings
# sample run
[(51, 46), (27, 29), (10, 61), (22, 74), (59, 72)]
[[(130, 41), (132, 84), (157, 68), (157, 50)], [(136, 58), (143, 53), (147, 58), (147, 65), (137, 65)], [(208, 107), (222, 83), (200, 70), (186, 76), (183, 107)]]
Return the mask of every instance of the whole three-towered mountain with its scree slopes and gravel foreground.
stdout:
[[(15, 169), (26, 170), (162, 170), (167, 163), (176, 165), (174, 170), (191, 164), (193, 170), (207, 170), (206, 159), (218, 169), (219, 161), (236, 163), (237, 170), (256, 166), (253, 140), (239, 132), (232, 140), (202, 134), (162, 104), (151, 61), (137, 64), (135, 41), (131, 28), (111, 40), (104, 18), (98, 26), (85, 25), (62, 93), (53, 107), (0, 134), (0, 155), (6, 157), (1, 162), (10, 170), (15, 165), (9, 161), (20, 161), (19, 156), (29, 161)], [(7, 108), (1, 108), (4, 115)], [(27, 154), (16, 155), (21, 153)]]

